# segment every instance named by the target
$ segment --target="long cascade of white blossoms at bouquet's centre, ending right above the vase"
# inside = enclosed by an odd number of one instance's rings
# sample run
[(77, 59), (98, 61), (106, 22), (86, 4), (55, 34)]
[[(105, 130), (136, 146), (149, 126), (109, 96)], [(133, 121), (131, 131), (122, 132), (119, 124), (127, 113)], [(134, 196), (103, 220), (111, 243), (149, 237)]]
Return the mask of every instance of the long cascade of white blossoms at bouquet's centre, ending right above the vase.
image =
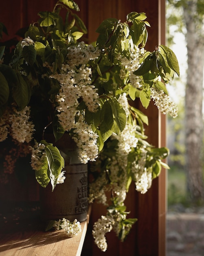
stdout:
[(91, 85), (92, 70), (87, 64), (99, 55), (98, 49), (92, 45), (86, 46), (83, 42), (68, 47), (67, 60), (62, 64), (61, 74), (52, 76), (61, 84), (57, 95), (59, 122), (65, 130), (73, 130), (82, 163), (94, 161), (98, 155), (98, 136), (86, 124), (77, 107), (79, 101), (83, 100), (90, 112), (97, 111), (99, 95), (94, 85)]

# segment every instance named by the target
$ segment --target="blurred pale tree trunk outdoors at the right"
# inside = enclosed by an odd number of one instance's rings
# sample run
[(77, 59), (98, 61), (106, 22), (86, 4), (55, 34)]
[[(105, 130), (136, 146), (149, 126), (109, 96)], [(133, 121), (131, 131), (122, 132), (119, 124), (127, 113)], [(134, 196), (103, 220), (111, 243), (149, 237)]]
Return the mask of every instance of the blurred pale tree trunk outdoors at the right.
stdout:
[(202, 199), (204, 195), (201, 161), (204, 38), (202, 22), (199, 22), (196, 16), (197, 4), (197, 0), (189, 0), (183, 5), (188, 55), (185, 96), (186, 171), (187, 188), (193, 201)]

